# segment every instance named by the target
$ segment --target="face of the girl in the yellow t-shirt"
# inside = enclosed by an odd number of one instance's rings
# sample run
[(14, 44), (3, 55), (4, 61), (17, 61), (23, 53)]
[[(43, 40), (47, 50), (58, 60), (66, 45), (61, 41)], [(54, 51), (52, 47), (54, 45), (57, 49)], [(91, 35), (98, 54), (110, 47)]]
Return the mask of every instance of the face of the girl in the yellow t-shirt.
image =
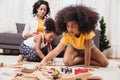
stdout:
[(78, 23), (76, 21), (69, 21), (67, 22), (67, 31), (69, 34), (71, 35), (79, 35), (79, 27), (78, 27)]

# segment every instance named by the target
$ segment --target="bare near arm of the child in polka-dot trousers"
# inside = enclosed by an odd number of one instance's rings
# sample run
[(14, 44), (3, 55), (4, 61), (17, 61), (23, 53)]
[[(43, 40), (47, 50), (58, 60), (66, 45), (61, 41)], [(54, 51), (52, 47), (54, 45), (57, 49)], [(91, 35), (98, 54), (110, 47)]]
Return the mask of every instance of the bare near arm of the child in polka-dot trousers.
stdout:
[(34, 39), (36, 45), (35, 45), (35, 50), (36, 50), (36, 53), (38, 54), (38, 56), (40, 58), (44, 58), (45, 55), (42, 53), (42, 51), (40, 50), (40, 47), (41, 47), (41, 42), (42, 42), (42, 38), (40, 35), (36, 36), (35, 39)]

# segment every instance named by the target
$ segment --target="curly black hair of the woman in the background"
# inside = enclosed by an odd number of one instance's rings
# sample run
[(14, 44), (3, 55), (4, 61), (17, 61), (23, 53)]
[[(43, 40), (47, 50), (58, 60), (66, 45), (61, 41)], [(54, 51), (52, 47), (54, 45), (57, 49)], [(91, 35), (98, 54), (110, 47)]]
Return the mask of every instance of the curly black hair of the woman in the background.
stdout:
[(48, 15), (50, 15), (49, 3), (45, 0), (38, 0), (33, 5), (33, 12), (32, 12), (33, 16), (37, 15), (37, 9), (40, 7), (41, 4), (45, 4), (47, 6), (47, 12), (46, 12), (45, 16), (47, 17)]

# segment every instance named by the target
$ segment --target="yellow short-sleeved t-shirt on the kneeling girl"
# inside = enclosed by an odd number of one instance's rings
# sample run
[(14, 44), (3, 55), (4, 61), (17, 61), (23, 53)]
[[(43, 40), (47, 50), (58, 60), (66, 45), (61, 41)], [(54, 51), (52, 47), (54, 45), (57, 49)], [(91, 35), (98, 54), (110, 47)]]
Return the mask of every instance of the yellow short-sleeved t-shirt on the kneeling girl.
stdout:
[(89, 34), (81, 34), (80, 37), (75, 37), (70, 35), (69, 33), (65, 33), (60, 40), (63, 44), (71, 44), (75, 49), (83, 50), (84, 49), (84, 41), (87, 39), (92, 39), (95, 36), (95, 33), (91, 31)]

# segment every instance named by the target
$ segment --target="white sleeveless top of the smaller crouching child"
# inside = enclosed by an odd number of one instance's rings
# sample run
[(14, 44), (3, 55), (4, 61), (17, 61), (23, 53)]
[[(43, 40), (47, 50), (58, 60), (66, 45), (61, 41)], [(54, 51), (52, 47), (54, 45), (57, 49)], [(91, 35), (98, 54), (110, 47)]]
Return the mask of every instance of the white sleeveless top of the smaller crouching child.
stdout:
[[(37, 35), (37, 36), (41, 36), (41, 38), (42, 38), (41, 48), (47, 46), (48, 43), (47, 43), (47, 42), (46, 42), (46, 43), (44, 42), (44, 38), (45, 38), (44, 35), (43, 35), (43, 34), (39, 34), (39, 35)], [(30, 37), (30, 38), (24, 40), (23, 43), (24, 43), (26, 46), (29, 46), (29, 47), (31, 47), (31, 48), (35, 48), (35, 42), (34, 42), (34, 38), (35, 38), (35, 37), (36, 37), (36, 36)], [(41, 48), (40, 48), (40, 49), (41, 49)]]

